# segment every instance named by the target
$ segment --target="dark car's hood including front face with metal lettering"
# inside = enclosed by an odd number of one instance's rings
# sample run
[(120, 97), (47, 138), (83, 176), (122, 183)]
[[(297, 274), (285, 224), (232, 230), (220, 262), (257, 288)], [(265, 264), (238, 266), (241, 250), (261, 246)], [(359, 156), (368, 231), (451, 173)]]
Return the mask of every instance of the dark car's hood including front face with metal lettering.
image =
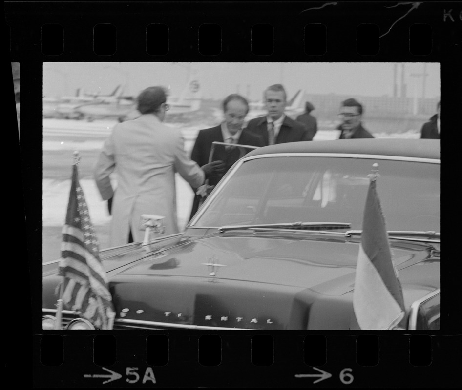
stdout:
[[(124, 325), (355, 329), (358, 249), (357, 238), (339, 235), (233, 231), (183, 236), (150, 255), (138, 246), (104, 263)], [(407, 306), (439, 287), (427, 245), (395, 241), (392, 251)], [(419, 264), (425, 271), (407, 271)]]

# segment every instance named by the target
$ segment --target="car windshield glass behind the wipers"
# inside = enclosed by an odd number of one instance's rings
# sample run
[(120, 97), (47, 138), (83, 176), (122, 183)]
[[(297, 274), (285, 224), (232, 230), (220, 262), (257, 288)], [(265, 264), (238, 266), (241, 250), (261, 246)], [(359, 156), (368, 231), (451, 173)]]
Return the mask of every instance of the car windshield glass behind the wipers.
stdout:
[(217, 188), (192, 226), (345, 222), (360, 230), (367, 175), (375, 162), (387, 230), (439, 232), (440, 164), (312, 156), (244, 162)]

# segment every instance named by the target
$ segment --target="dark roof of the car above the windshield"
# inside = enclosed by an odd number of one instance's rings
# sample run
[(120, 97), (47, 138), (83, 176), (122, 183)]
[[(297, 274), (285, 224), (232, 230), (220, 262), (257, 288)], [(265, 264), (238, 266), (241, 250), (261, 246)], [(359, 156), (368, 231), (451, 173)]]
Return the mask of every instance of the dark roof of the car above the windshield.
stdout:
[(440, 159), (439, 139), (363, 138), (287, 142), (265, 146), (246, 157), (273, 153), (348, 153)]

